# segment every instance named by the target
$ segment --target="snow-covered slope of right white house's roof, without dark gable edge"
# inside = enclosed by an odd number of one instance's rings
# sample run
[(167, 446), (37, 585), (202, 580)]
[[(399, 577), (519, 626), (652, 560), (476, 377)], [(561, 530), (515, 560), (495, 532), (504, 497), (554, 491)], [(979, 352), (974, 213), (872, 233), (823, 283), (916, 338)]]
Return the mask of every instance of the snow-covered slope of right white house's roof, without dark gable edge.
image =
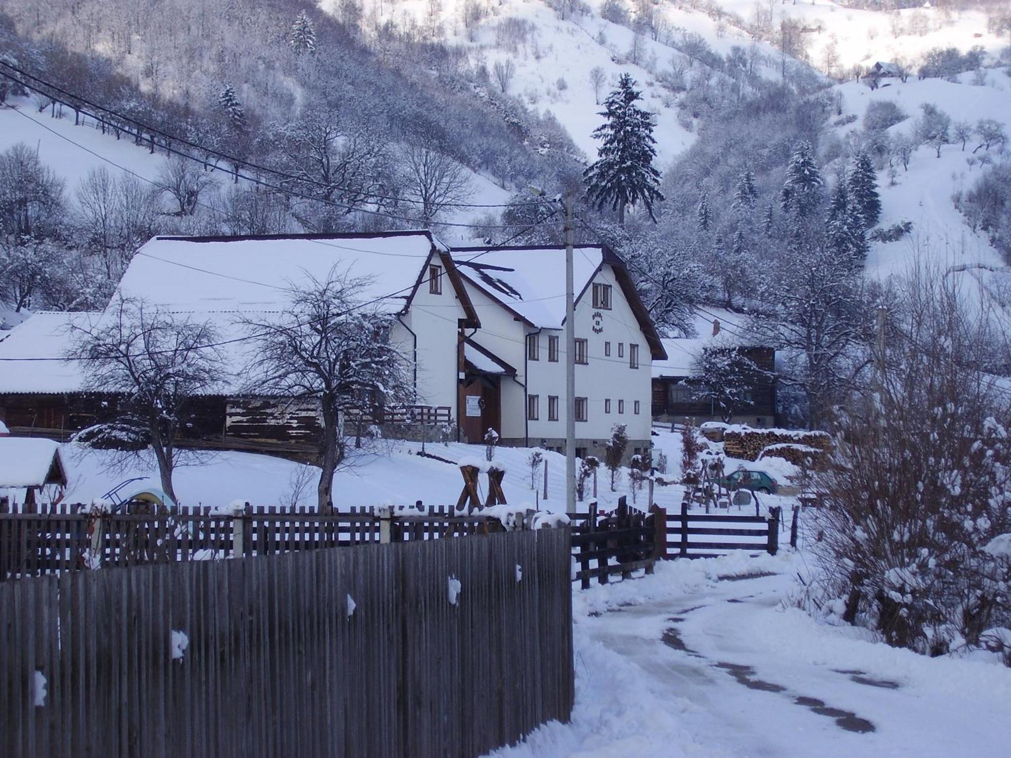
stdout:
[[(457, 248), (459, 272), (534, 326), (561, 328), (565, 323), (565, 249)], [(601, 246), (574, 249), (572, 281), (582, 292), (604, 263)]]

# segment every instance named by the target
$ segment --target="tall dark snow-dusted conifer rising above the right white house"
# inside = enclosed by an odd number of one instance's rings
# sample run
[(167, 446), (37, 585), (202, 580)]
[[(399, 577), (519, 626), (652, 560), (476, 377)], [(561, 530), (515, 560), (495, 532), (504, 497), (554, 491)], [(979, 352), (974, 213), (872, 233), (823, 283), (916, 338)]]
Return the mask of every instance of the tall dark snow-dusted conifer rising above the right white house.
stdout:
[(660, 172), (653, 167), (653, 116), (635, 104), (641, 99), (635, 80), (622, 74), (618, 89), (604, 101), (601, 115), (608, 120), (593, 130), (593, 138), (602, 140), (596, 162), (583, 172), (590, 202), (599, 208), (610, 204), (619, 223), (625, 222), (626, 206), (637, 202), (655, 221), (653, 203), (663, 200)]

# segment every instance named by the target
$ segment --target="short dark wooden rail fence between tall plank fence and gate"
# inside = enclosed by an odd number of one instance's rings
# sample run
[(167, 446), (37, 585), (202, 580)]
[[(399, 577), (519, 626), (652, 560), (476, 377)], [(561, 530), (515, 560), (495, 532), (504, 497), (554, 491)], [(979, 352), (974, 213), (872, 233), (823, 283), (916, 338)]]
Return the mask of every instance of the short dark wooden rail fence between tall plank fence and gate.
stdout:
[(572, 523), (572, 557), (578, 566), (574, 581), (587, 589), (592, 579), (607, 584), (612, 576), (632, 578), (643, 569), (652, 574), (657, 560), (666, 549), (666, 518), (663, 508), (653, 506), (649, 513), (630, 508), (624, 497), (614, 514), (569, 513)]

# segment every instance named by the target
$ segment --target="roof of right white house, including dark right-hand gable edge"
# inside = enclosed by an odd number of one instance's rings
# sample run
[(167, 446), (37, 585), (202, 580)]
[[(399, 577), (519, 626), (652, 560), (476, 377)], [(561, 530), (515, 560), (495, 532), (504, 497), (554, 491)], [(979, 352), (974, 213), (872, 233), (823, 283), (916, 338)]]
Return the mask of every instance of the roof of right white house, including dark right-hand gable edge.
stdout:
[[(626, 301), (649, 343), (653, 360), (665, 356), (625, 262), (603, 245), (580, 245), (573, 251), (575, 301), (589, 290), (593, 277), (611, 266)], [(457, 270), (477, 289), (534, 327), (560, 329), (565, 324), (565, 248), (453, 248)]]

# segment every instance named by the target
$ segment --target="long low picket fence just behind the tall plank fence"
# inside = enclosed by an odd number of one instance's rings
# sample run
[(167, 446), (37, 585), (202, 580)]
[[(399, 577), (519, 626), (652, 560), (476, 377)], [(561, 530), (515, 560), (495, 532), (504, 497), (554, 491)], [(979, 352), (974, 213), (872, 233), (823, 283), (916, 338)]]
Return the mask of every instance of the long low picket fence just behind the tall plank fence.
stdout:
[(452, 507), (180, 507), (172, 513), (0, 513), (0, 581), (102, 566), (205, 561), (500, 531), (489, 516)]

